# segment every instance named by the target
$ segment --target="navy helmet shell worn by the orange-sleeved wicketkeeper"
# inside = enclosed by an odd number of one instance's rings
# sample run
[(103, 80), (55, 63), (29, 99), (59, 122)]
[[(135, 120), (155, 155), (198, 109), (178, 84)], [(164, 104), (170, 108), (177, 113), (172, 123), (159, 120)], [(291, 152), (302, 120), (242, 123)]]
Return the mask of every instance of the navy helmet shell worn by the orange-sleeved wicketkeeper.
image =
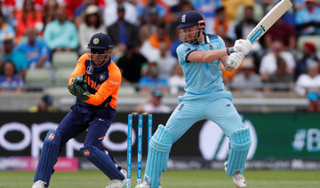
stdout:
[(110, 36), (106, 34), (94, 34), (88, 43), (88, 49), (103, 49), (108, 50), (112, 49), (113, 44)]

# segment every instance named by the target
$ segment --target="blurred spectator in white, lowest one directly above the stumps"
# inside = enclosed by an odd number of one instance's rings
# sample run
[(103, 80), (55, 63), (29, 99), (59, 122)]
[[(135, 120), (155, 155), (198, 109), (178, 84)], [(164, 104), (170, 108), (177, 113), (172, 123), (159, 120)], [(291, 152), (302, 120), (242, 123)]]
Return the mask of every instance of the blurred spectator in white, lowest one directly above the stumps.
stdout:
[(172, 109), (166, 106), (162, 102), (163, 93), (161, 90), (152, 91), (151, 96), (149, 96), (145, 101), (143, 101), (139, 106), (134, 108), (134, 112), (138, 113), (170, 113)]

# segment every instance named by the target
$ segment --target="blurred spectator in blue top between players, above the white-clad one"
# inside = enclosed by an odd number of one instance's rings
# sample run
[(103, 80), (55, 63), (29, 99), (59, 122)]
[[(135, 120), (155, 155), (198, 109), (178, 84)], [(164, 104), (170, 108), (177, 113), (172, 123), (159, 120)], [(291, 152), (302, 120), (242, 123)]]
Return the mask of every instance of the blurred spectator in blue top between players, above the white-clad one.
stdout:
[(159, 76), (159, 68), (156, 63), (148, 65), (148, 74), (143, 76), (139, 82), (140, 92), (151, 92), (152, 90), (162, 90), (164, 93), (169, 92), (168, 80)]

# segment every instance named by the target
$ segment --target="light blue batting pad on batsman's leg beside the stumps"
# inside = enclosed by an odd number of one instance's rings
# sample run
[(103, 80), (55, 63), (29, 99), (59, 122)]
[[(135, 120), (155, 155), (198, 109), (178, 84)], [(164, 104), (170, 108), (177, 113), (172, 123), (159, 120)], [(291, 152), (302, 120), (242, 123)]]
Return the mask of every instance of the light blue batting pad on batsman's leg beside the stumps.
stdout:
[(159, 125), (151, 137), (145, 179), (151, 188), (158, 187), (161, 174), (166, 170), (169, 153), (172, 147), (172, 135), (163, 125)]

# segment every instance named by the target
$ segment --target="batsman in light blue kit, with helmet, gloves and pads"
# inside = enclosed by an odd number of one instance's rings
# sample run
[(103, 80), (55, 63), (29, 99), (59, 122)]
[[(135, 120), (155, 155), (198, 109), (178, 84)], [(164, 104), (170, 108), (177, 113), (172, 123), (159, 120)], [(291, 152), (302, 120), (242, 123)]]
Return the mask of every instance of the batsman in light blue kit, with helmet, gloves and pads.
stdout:
[(227, 71), (233, 71), (251, 51), (252, 43), (240, 39), (234, 47), (226, 48), (219, 35), (204, 33), (205, 21), (199, 12), (185, 12), (179, 22), (181, 44), (177, 54), (186, 79), (186, 92), (178, 98), (180, 104), (165, 127), (159, 125), (151, 137), (144, 182), (136, 188), (161, 187), (160, 178), (166, 170), (172, 144), (196, 121), (204, 119), (216, 122), (229, 137), (227, 176), (233, 177), (236, 187), (246, 187), (243, 174), (251, 146), (250, 132), (232, 104), (232, 94), (224, 89), (220, 62)]

